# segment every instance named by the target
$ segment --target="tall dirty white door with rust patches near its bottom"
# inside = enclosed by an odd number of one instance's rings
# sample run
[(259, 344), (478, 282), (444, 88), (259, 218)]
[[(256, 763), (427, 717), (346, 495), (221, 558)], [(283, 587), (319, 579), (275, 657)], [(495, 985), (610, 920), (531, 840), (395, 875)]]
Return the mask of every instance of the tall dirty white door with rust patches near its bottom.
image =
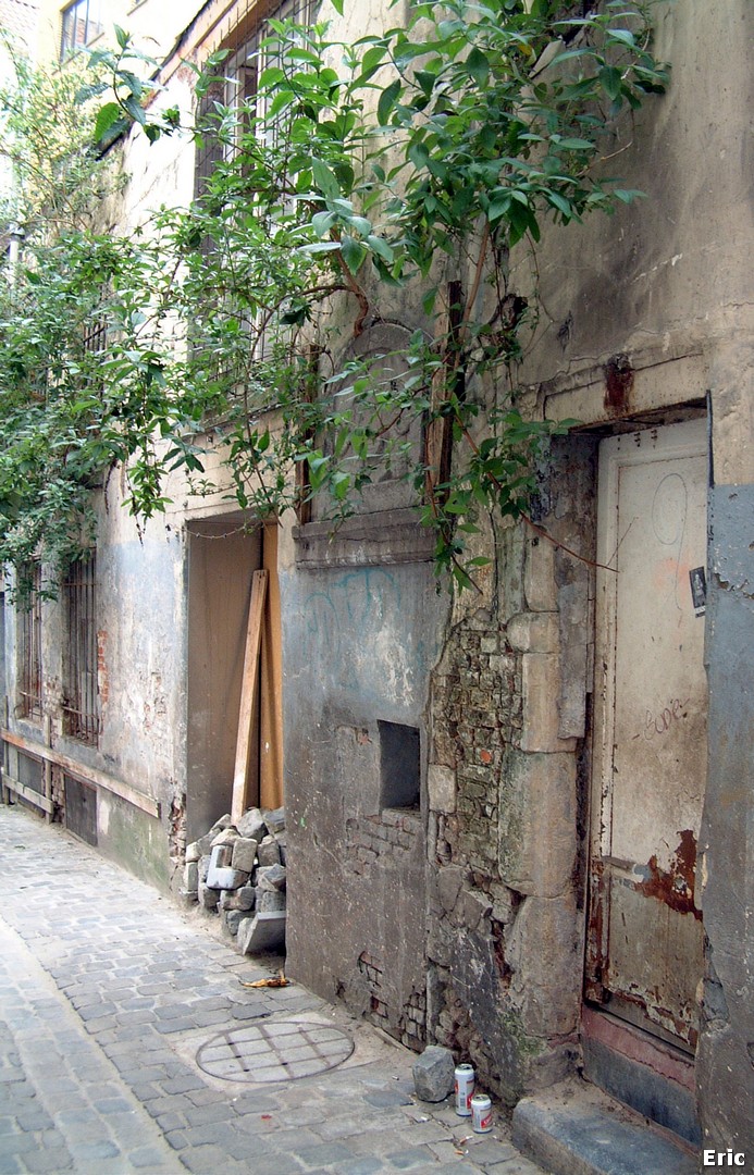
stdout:
[(693, 1048), (706, 778), (703, 421), (602, 442), (586, 995)]

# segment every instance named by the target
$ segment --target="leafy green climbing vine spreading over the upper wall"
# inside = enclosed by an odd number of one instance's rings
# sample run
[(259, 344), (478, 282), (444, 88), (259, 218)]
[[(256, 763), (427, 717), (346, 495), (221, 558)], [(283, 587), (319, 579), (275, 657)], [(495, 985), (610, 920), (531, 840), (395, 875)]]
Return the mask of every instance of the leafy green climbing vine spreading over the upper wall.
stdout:
[[(0, 560), (70, 557), (115, 465), (139, 519), (166, 508), (175, 469), (213, 492), (209, 448), (251, 519), (305, 517), (315, 497), (341, 518), (392, 468), (460, 585), (477, 511), (526, 513), (552, 428), (517, 408), (537, 308), (511, 286), (511, 251), (536, 251), (545, 221), (639, 195), (604, 160), (625, 112), (667, 82), (644, 6), (415, 4), (406, 27), (356, 43), (269, 27), (254, 99), (221, 100), (216, 54), (188, 126), (126, 33), (90, 55), (86, 133), (60, 175), (74, 159), (101, 174), (130, 128), (190, 136), (216, 156), (190, 207), (127, 231), (96, 184), (79, 177), (72, 220), (56, 174), (36, 203), (34, 164), (22, 174), (22, 261), (0, 295)], [(22, 93), (31, 76), (4, 95), (21, 120), (5, 141), (26, 118), (42, 157), (56, 122)], [(393, 298), (422, 311), (404, 374), (385, 378), (390, 356), (345, 344)]]

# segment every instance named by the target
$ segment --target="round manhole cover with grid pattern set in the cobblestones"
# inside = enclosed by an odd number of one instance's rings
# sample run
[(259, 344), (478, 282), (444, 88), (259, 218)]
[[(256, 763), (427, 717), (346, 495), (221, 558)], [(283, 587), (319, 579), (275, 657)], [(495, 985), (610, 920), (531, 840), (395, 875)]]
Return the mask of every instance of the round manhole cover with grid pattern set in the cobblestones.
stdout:
[(334, 1069), (352, 1052), (351, 1038), (330, 1025), (269, 1020), (213, 1036), (196, 1061), (204, 1073), (225, 1081), (292, 1081)]

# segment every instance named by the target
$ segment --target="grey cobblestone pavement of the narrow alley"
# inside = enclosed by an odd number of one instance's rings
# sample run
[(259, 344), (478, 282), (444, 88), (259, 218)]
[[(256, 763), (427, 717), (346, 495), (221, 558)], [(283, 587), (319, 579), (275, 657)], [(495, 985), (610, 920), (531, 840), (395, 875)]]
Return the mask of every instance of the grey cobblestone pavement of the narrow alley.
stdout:
[[(503, 1122), (473, 1135), (418, 1102), (408, 1049), (298, 985), (245, 987), (280, 960), (238, 955), (56, 826), (0, 806), (0, 1175), (538, 1175)], [(262, 1083), (254, 1055), (243, 1080), (197, 1062), (291, 1019), (354, 1052)]]

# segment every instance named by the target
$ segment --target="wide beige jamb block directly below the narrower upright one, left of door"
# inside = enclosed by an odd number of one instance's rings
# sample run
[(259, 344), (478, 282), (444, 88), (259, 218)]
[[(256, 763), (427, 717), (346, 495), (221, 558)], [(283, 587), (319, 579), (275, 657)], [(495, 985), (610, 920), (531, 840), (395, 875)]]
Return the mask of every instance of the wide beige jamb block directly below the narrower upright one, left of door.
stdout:
[(577, 853), (575, 758), (510, 751), (498, 792), (500, 880), (556, 898), (571, 886)]

